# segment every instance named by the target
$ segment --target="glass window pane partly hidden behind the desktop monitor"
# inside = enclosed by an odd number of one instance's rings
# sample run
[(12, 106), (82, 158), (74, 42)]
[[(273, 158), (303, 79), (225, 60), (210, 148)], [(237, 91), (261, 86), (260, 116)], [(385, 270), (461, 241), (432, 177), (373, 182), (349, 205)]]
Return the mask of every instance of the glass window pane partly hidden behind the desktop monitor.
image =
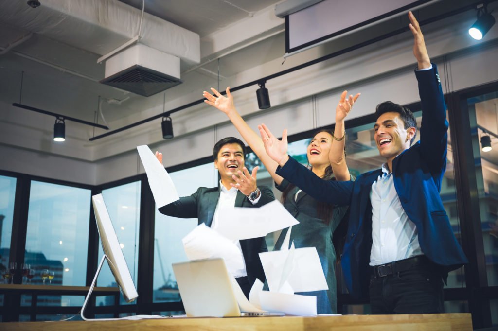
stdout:
[[(140, 181), (102, 190), (102, 196), (118, 236), (124, 259), (128, 265), (131, 278), (137, 285), (138, 268), (138, 226), (140, 222)], [(104, 256), (102, 245), (99, 243), (99, 262)], [(97, 279), (98, 286), (116, 287), (108, 263), (104, 263)], [(120, 304), (125, 304), (121, 294)], [(136, 300), (132, 303), (135, 304)], [(97, 306), (114, 305), (114, 296), (97, 297)]]

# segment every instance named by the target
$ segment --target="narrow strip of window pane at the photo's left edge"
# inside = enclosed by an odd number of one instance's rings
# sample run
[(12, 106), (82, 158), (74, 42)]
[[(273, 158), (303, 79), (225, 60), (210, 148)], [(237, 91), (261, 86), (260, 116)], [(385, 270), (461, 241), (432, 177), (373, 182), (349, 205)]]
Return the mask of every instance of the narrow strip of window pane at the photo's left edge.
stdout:
[(0, 176), (0, 281), (9, 262), (15, 183), (13, 177)]

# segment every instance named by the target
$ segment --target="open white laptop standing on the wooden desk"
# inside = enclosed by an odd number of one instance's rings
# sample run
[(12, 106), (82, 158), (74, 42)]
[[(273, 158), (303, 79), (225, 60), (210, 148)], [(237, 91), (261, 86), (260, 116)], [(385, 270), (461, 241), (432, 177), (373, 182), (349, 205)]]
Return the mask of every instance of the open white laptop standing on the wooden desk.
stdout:
[[(241, 311), (222, 258), (173, 263), (173, 272), (188, 317), (283, 316), (254, 309)], [(237, 289), (236, 289), (237, 290)], [(239, 297), (242, 290), (238, 289)], [(244, 296), (242, 294), (242, 296)], [(240, 298), (241, 299), (241, 298)], [(244, 297), (244, 300), (245, 299)], [(249, 303), (246, 301), (246, 304)]]

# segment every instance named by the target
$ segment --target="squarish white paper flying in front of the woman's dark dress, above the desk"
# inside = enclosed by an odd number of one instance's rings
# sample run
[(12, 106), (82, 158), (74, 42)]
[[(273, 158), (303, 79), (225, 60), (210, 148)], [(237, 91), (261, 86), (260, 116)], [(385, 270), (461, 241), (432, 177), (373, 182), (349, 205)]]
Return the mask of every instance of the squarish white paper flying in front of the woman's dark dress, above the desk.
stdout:
[(292, 249), (291, 246), (288, 251), (259, 253), (259, 258), (268, 287), (272, 292), (280, 292), (285, 282), (290, 285), (294, 293), (321, 291), (329, 288), (315, 247)]

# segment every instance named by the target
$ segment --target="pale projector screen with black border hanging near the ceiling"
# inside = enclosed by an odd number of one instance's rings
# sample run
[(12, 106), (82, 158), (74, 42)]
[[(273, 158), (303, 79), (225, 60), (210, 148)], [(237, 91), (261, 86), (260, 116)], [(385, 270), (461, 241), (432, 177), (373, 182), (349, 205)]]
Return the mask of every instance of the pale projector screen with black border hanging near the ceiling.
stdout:
[(433, 0), (324, 0), (285, 16), (285, 51), (292, 53)]

